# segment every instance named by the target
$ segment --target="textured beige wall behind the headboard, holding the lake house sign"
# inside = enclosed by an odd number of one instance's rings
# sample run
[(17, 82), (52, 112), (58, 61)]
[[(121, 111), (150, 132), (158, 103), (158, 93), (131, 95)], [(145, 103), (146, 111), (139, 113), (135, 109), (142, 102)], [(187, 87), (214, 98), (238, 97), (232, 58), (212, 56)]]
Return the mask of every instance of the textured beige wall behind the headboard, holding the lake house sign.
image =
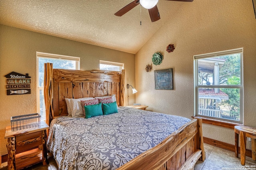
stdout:
[[(50, 35), (0, 25), (0, 154), (7, 154), (4, 139), (10, 117), (36, 113), (36, 51), (80, 57), (80, 69), (99, 69), (99, 60), (124, 63), (125, 84), (135, 85), (135, 55), (95, 45), (70, 41)], [(31, 76), (31, 94), (6, 95), (6, 74), (10, 72)], [(130, 95), (130, 103), (135, 95)], [(127, 105), (127, 89), (125, 89)]]

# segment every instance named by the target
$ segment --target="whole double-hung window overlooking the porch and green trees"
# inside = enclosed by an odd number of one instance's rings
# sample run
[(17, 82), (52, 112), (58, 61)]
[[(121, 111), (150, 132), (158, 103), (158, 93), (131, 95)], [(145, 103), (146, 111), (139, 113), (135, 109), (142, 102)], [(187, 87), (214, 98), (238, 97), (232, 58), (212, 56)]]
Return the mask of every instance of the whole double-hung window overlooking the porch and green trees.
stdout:
[(194, 56), (195, 113), (242, 123), (243, 49)]

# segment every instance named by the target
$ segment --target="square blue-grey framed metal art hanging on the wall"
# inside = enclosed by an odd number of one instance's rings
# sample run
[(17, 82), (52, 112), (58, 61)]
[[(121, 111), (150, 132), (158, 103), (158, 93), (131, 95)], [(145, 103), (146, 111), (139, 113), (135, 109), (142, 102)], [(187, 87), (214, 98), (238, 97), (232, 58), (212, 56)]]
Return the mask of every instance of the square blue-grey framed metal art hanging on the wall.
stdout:
[(172, 68), (165, 70), (155, 70), (155, 89), (173, 90)]

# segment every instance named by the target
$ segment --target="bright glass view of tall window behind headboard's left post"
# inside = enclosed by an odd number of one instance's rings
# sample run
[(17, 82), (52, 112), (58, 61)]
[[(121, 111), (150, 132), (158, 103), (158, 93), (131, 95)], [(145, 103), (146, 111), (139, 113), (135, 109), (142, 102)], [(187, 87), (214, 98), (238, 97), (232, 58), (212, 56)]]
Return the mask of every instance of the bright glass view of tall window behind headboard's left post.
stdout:
[(53, 68), (77, 69), (74, 60), (53, 59), (46, 57), (38, 57), (38, 95), (39, 108), (41, 119), (45, 119), (45, 104), (44, 104), (44, 63), (52, 63)]

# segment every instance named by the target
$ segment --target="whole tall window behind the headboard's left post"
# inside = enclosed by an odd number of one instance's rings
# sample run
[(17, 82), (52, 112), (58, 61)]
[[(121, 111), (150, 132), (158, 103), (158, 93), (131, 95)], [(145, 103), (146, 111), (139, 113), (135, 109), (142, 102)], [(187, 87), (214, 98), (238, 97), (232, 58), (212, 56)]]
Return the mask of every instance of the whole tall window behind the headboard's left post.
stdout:
[(55, 55), (48, 53), (36, 52), (37, 58), (37, 111), (41, 115), (41, 119), (45, 120), (45, 104), (44, 104), (44, 63), (52, 63), (53, 68), (76, 69), (79, 70), (80, 58), (64, 55)]

